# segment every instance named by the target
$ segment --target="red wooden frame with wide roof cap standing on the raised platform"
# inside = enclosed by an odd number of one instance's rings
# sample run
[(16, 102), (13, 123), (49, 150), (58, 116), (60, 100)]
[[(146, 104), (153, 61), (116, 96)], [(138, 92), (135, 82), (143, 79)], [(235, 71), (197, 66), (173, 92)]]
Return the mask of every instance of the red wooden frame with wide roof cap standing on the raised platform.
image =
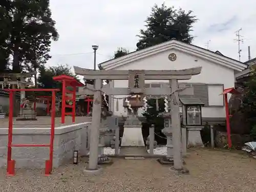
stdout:
[[(53, 80), (60, 81), (62, 83), (62, 104), (61, 104), (61, 123), (65, 123), (65, 116), (71, 115), (72, 122), (75, 122), (76, 115), (76, 87), (83, 87), (84, 84), (77, 81), (74, 77), (68, 75), (59, 75), (53, 77)], [(72, 87), (72, 91), (67, 87)], [(72, 94), (71, 97), (66, 94)], [(72, 105), (67, 105), (66, 101), (72, 101)], [(71, 113), (66, 113), (66, 108), (72, 108)]]

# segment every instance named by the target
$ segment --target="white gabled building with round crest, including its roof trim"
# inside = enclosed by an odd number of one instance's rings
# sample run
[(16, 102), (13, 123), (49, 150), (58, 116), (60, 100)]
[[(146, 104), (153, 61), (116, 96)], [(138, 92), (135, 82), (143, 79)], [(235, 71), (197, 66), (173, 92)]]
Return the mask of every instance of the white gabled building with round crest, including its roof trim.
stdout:
[[(223, 89), (234, 87), (235, 74), (247, 68), (247, 65), (238, 60), (226, 57), (219, 52), (212, 52), (194, 45), (172, 39), (162, 44), (128, 55), (100, 63), (101, 70), (182, 70), (202, 66), (201, 74), (189, 80), (179, 81), (187, 86), (194, 87), (194, 96), (200, 99), (203, 121), (210, 119), (225, 120)], [(165, 80), (146, 80), (146, 87), (160, 87), (168, 83)], [(111, 87), (127, 88), (127, 80), (113, 80)], [(115, 96), (124, 97), (124, 96)], [(118, 107), (116, 104), (118, 103)], [(110, 109), (114, 115), (127, 116), (123, 108), (123, 101), (110, 96)], [(143, 109), (140, 109), (141, 116)]]

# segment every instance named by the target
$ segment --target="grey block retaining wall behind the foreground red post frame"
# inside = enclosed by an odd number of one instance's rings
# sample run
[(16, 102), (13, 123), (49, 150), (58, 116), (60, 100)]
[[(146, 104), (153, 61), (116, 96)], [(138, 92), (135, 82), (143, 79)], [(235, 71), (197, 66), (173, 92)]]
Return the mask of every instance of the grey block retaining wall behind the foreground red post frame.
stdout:
[[(77, 123), (55, 128), (53, 167), (66, 163), (73, 158), (73, 151), (78, 154), (84, 151), (90, 123)], [(48, 144), (50, 143), (50, 129), (14, 129), (13, 144)], [(0, 167), (7, 163), (8, 130), (0, 129)], [(44, 168), (49, 159), (49, 147), (12, 147), (12, 159), (16, 161), (15, 168)]]

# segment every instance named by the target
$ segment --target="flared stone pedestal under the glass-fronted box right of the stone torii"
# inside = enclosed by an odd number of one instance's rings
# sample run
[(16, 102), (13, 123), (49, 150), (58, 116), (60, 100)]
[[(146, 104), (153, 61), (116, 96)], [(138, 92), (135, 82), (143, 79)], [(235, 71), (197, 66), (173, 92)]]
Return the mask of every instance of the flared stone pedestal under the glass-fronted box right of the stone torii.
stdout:
[(187, 145), (188, 147), (204, 147), (200, 131), (203, 129), (203, 126), (186, 126), (188, 138)]

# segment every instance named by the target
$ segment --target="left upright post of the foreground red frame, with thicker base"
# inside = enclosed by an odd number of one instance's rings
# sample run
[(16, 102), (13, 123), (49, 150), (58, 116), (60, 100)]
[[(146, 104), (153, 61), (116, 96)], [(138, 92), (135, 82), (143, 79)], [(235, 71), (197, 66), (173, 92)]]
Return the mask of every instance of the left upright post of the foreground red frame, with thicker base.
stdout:
[(13, 91), (9, 92), (9, 127), (7, 146), (7, 175), (14, 175), (15, 161), (12, 160)]

